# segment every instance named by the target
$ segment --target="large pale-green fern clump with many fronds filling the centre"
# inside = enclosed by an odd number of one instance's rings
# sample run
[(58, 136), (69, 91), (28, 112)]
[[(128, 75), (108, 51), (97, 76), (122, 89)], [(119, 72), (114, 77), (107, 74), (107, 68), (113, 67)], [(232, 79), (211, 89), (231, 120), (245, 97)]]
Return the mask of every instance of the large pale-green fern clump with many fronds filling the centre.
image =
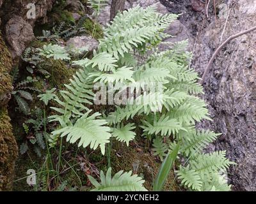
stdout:
[[(197, 73), (188, 67), (191, 54), (184, 50), (188, 42), (176, 43), (164, 52), (157, 49), (168, 37), (164, 29), (177, 17), (161, 15), (154, 6), (146, 9), (136, 6), (116, 15), (112, 24), (104, 29), (104, 38), (92, 59), (74, 62), (81, 69), (70, 84), (65, 85), (65, 91), (60, 91), (61, 98), (55, 98), (58, 107), (52, 107), (56, 114), (50, 119), (58, 122), (60, 128), (52, 132), (52, 146), (60, 136), (65, 136), (70, 143), (78, 142), (78, 146), (91, 149), (99, 147), (104, 154), (111, 137), (129, 145), (135, 138), (134, 129), (140, 129), (141, 136), (154, 140), (154, 151), (161, 159), (179, 143), (179, 157), (189, 161), (177, 170), (186, 187), (196, 191), (228, 190), (230, 186), (220, 170), (227, 170), (233, 163), (225, 158), (225, 152), (205, 154), (204, 148), (218, 135), (195, 128), (196, 122), (210, 118), (205, 102), (196, 96), (203, 91), (197, 83)], [(115, 110), (107, 106), (101, 113), (95, 113), (92, 105), (96, 82), (112, 84), (108, 93), (121, 92), (122, 96), (122, 91), (129, 89), (132, 96), (137, 92), (143, 94), (128, 97), (122, 106), (116, 105)], [(161, 91), (148, 92), (145, 84), (150, 83), (159, 85)], [(121, 91), (116, 91), (116, 87), (121, 87)], [(134, 117), (136, 122), (132, 122)], [(173, 143), (167, 145), (163, 138)], [(109, 170), (106, 177), (102, 174), (102, 184), (92, 177), (90, 180), (96, 189), (110, 191), (115, 190), (116, 185), (132, 181), (130, 175), (125, 174), (124, 180), (118, 180), (122, 178), (119, 172), (111, 180)]]

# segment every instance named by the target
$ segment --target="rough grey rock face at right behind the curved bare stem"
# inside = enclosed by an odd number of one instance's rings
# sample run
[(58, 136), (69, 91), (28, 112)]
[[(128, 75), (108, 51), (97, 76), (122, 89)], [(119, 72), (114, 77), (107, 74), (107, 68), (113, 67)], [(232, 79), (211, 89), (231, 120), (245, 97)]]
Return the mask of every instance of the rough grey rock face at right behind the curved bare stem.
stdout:
[[(209, 18), (205, 10), (196, 10), (192, 3), (177, 1), (168, 10), (183, 13), (179, 20), (193, 36), (190, 40), (194, 55), (191, 66), (202, 74), (221, 42), (255, 26), (256, 4), (254, 0), (220, 1), (215, 22), (212, 3)], [(225, 27), (227, 8), (231, 11)], [(223, 133), (209, 148), (227, 150), (227, 156), (237, 163), (228, 172), (230, 184), (237, 191), (256, 191), (255, 41), (255, 31), (230, 41), (216, 57), (204, 84), (204, 98), (213, 121), (205, 121), (200, 126)]]

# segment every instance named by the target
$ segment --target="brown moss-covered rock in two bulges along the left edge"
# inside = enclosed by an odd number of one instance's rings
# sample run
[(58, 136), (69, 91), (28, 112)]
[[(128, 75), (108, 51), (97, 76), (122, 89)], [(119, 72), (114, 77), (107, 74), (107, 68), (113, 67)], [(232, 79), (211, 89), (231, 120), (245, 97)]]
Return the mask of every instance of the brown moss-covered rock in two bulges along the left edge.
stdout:
[[(12, 91), (12, 57), (0, 33), (0, 95)], [(0, 101), (1, 102), (1, 101)], [(17, 143), (5, 104), (0, 103), (0, 191), (12, 189)]]

